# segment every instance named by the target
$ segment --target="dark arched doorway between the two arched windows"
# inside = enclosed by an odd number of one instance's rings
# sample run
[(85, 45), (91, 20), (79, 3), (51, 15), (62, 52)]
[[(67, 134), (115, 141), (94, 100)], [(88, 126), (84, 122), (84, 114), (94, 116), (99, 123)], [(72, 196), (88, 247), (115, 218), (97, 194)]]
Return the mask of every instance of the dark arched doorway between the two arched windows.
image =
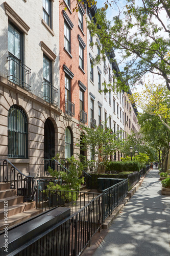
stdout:
[[(54, 125), (50, 119), (46, 119), (44, 124), (44, 160), (52, 159), (55, 156), (55, 130)], [(49, 162), (44, 162), (44, 169), (47, 170)], [(53, 166), (54, 165), (54, 166)], [(52, 168), (55, 164), (50, 164)]]

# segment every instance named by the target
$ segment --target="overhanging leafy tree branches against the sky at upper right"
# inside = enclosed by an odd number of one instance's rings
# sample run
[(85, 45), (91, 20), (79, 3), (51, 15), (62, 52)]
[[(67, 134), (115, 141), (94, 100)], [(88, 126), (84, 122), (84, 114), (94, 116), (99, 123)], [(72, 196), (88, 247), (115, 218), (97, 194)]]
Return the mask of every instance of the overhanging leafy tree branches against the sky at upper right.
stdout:
[[(111, 3), (113, 7), (119, 4), (116, 1)], [(107, 19), (105, 9), (106, 6), (98, 10), (88, 23), (88, 28), (92, 35), (100, 38), (100, 58), (105, 58), (112, 50), (119, 49), (120, 62), (126, 61), (124, 70), (113, 74), (118, 78), (117, 86), (120, 89), (125, 88), (126, 84), (134, 86), (141, 83), (145, 75), (152, 73), (163, 78), (170, 90), (170, 2), (128, 0), (113, 20)], [(161, 19), (161, 14), (166, 17), (165, 21)], [(95, 61), (99, 62), (100, 58), (96, 57)], [(113, 62), (116, 65), (115, 59)], [(109, 84), (109, 90), (112, 87)]]

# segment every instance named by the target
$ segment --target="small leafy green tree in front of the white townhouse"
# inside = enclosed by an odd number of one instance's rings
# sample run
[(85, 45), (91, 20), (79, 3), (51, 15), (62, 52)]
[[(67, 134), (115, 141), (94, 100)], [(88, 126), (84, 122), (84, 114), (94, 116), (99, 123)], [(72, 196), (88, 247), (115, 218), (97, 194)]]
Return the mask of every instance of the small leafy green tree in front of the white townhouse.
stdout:
[(107, 127), (107, 121), (103, 122), (103, 125), (96, 126), (95, 129), (79, 124), (78, 126), (81, 136), (76, 145), (80, 147), (80, 152), (90, 153), (91, 160), (87, 160), (86, 156), (82, 158), (81, 153), (79, 158), (85, 168), (104, 173), (106, 165), (110, 161), (110, 156), (121, 147), (122, 140), (118, 138), (120, 132), (114, 134)]

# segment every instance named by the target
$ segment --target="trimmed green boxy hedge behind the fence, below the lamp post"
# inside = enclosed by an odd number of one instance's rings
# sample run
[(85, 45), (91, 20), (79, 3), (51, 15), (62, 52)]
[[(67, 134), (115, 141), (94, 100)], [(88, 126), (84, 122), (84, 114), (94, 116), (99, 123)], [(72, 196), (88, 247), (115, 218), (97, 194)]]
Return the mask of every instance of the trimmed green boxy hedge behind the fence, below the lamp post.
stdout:
[(117, 173), (122, 172), (136, 172), (140, 171), (140, 164), (136, 161), (130, 162), (109, 162), (106, 167), (106, 172), (110, 170), (115, 170)]

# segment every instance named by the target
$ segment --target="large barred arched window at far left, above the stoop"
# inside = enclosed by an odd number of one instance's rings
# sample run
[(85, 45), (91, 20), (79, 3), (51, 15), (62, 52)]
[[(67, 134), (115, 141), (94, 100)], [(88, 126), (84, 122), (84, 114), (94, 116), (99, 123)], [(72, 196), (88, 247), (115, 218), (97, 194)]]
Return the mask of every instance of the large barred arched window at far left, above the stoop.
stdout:
[(8, 111), (8, 157), (28, 158), (28, 122), (20, 106)]

